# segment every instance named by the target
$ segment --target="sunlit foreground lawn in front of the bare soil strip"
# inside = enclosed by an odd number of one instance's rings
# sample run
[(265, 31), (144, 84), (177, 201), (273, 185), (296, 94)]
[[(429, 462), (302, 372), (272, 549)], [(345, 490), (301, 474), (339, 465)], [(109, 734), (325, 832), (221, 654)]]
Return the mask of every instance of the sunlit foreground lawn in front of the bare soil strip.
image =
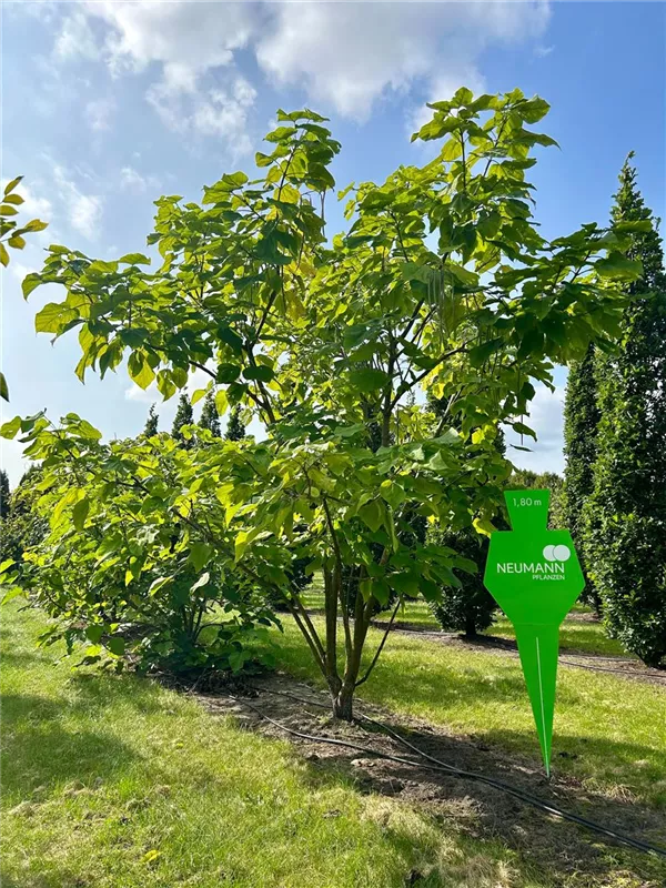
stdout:
[(232, 717), (54, 666), (58, 648), (34, 649), (42, 628), (16, 603), (0, 610), (0, 888), (401, 888), (412, 868), (431, 888), (553, 885)]

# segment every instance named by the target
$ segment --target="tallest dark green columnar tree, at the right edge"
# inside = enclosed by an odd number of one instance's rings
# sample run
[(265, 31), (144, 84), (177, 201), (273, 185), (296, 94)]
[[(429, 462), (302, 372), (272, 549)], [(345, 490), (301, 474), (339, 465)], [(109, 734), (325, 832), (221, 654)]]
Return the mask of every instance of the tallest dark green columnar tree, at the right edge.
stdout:
[(585, 553), (610, 634), (657, 666), (666, 657), (666, 275), (659, 220), (645, 206), (632, 157), (612, 220), (643, 275), (626, 286), (620, 350), (596, 356), (601, 421)]

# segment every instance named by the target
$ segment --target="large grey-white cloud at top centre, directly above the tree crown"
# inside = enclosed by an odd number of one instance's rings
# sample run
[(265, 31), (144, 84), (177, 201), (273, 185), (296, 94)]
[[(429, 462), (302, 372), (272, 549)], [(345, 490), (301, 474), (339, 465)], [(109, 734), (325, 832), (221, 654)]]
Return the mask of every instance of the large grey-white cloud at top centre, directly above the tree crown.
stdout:
[(274, 19), (256, 46), (263, 69), (276, 82), (304, 85), (311, 98), (360, 119), (387, 90), (418, 81), (462, 85), (461, 74), (476, 79), (477, 58), (490, 42), (538, 36), (549, 16), (547, 0), (379, 7), (285, 0), (271, 9)]

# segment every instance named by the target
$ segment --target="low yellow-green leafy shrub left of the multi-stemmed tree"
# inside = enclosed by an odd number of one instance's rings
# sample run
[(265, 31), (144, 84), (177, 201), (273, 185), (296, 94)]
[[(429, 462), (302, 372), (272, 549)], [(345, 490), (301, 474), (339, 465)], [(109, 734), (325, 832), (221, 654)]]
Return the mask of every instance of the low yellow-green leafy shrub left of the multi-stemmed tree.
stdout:
[[(214, 490), (201, 527), (181, 496), (205, 450), (164, 435), (100, 444), (92, 426), (63, 422), (79, 435), (75, 453), (14, 496), (16, 526), (30, 533), (2, 526), (4, 556), (17, 562), (10, 578), (53, 618), (42, 643), (82, 645), (82, 663), (118, 669), (235, 673), (254, 663), (251, 643), (275, 622), (265, 595), (235, 568)], [(59, 441), (49, 433), (40, 455)]]

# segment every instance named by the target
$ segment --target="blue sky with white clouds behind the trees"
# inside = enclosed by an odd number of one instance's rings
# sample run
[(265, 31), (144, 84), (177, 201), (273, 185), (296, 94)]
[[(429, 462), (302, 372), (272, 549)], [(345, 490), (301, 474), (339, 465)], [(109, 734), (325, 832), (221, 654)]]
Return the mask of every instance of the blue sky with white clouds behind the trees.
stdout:
[[(343, 144), (340, 186), (381, 180), (418, 162), (410, 145), (424, 102), (457, 87), (519, 87), (552, 104), (541, 128), (562, 151), (532, 171), (548, 236), (605, 222), (626, 153), (636, 152), (647, 203), (665, 215), (666, 4), (658, 2), (2, 2), (0, 178), (23, 174), (26, 209), (49, 221), (0, 278), (3, 415), (75, 411), (108, 436), (143, 426), (153, 393), (127, 375), (73, 375), (75, 340), (33, 332), (20, 281), (43, 246), (64, 243), (112, 258), (143, 250), (152, 201), (199, 200), (223, 172), (252, 167), (275, 109), (307, 104), (331, 118)], [(342, 215), (331, 212), (331, 234)], [(562, 471), (562, 400), (539, 391), (539, 442), (517, 464)], [(196, 384), (194, 384), (196, 387)], [(159, 404), (169, 427), (174, 400)], [(20, 447), (0, 460), (16, 483)]]

